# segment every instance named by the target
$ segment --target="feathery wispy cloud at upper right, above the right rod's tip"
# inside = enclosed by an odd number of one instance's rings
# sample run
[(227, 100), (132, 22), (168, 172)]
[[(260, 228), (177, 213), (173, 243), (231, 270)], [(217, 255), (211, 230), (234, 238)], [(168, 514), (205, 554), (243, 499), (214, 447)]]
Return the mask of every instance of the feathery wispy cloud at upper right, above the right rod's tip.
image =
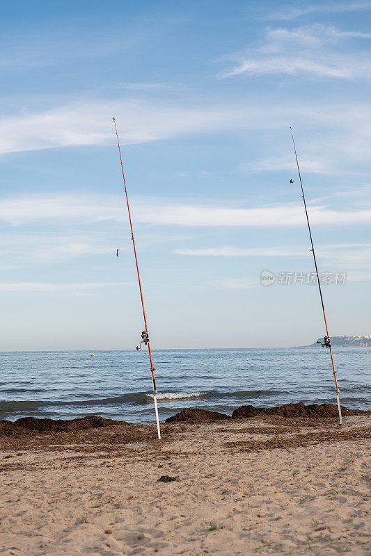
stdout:
[(368, 33), (340, 31), (319, 24), (290, 30), (269, 29), (262, 47), (249, 49), (244, 56), (239, 56), (235, 67), (219, 76), (287, 74), (369, 79), (371, 63), (368, 52), (342, 49), (342, 43), (370, 38)]

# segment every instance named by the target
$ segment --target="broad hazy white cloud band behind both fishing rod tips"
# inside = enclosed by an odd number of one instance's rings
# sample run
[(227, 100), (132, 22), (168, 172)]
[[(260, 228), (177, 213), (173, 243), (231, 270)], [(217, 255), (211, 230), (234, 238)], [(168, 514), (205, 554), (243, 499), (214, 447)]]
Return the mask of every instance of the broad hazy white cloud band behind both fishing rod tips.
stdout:
[[(91, 115), (94, 117), (91, 117)], [(0, 120), (0, 154), (31, 149), (63, 146), (111, 145), (112, 115), (118, 119), (122, 146), (180, 136), (184, 133), (249, 130), (266, 133), (267, 149), (276, 154), (245, 165), (240, 169), (294, 169), (290, 162), (291, 124), (298, 130), (298, 152), (303, 170), (316, 173), (341, 174), (361, 172), (360, 161), (369, 161), (371, 117), (369, 103), (265, 104), (254, 101), (232, 106), (196, 106), (174, 108), (162, 104), (115, 101), (111, 104), (65, 106), (33, 115), (17, 115)], [(318, 129), (322, 130), (318, 137)], [(267, 133), (268, 132), (268, 133)], [(313, 137), (316, 140), (313, 140)], [(287, 142), (285, 142), (285, 138)], [(326, 155), (324, 155), (324, 153)], [(125, 149), (123, 149), (125, 164)], [(181, 169), (180, 173), (186, 173)], [(349, 172), (350, 173), (350, 172)], [(183, 175), (184, 175), (183, 174)], [(37, 208), (39, 211), (40, 208)]]

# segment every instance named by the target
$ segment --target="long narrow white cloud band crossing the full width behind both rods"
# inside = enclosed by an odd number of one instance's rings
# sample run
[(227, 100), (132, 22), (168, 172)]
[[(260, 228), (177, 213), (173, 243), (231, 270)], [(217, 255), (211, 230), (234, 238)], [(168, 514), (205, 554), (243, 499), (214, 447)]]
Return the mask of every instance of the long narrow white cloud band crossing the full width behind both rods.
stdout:
[[(148, 198), (134, 199), (136, 222), (184, 227), (292, 227), (303, 225), (300, 204), (277, 204), (256, 208), (226, 208), (205, 204), (160, 204)], [(337, 211), (326, 205), (311, 205), (313, 224), (361, 225), (370, 224), (371, 210)], [(122, 199), (103, 195), (40, 195), (0, 202), (0, 220), (13, 225), (24, 222), (102, 222), (123, 220)]]

